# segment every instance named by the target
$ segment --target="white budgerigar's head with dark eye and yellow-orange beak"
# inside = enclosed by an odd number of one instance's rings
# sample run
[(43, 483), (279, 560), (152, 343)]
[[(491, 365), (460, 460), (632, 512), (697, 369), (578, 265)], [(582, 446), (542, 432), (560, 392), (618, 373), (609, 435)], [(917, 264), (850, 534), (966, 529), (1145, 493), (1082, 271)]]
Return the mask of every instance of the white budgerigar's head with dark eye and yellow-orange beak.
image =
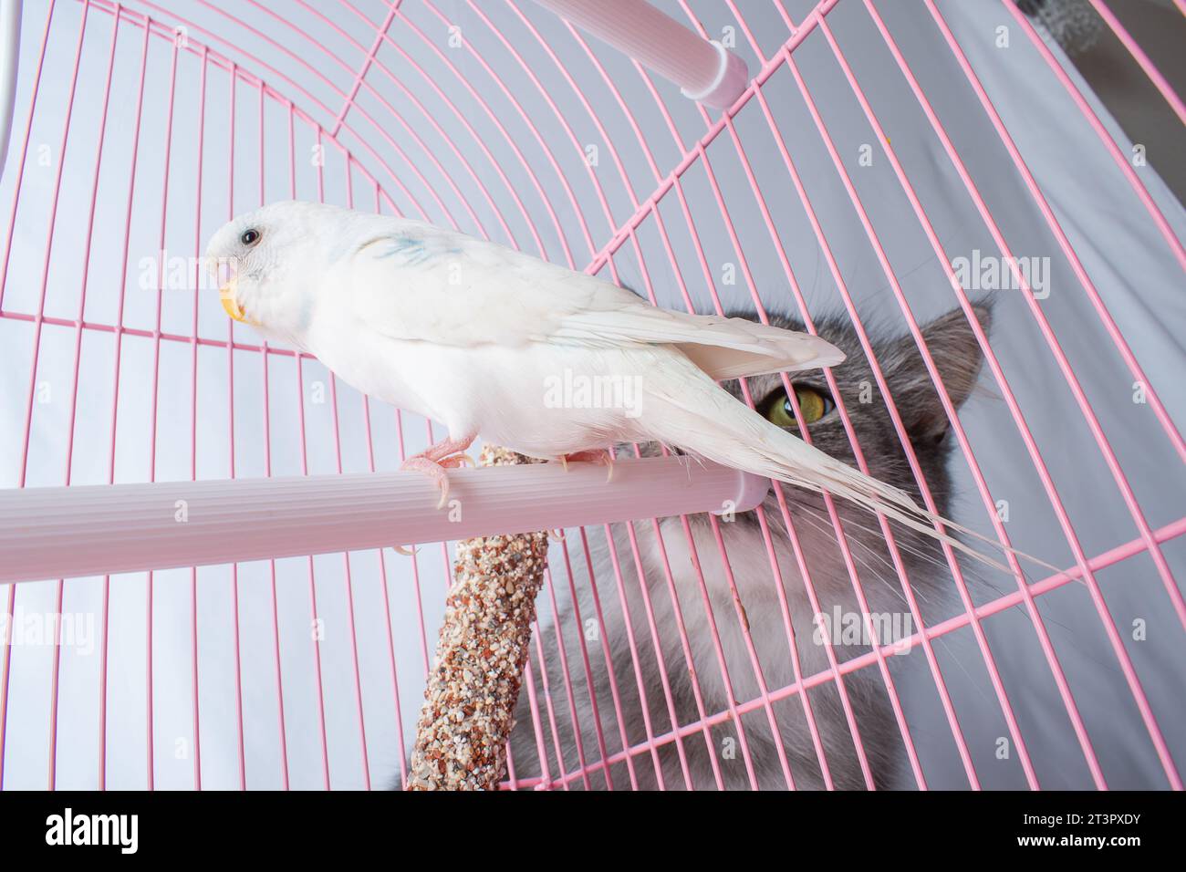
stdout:
[(276, 337), (294, 338), (307, 324), (327, 266), (336, 222), (351, 212), (321, 203), (286, 201), (244, 212), (223, 224), (206, 246), (231, 318)]

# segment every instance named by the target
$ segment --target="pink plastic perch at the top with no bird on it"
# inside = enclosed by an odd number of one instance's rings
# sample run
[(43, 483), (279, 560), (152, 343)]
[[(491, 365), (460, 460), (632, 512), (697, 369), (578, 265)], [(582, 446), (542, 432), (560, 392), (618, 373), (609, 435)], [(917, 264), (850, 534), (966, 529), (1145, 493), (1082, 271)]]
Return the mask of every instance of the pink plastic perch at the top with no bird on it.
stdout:
[(715, 109), (737, 101), (750, 82), (745, 61), (716, 40), (701, 39), (642, 0), (536, 0), (561, 18), (625, 52)]

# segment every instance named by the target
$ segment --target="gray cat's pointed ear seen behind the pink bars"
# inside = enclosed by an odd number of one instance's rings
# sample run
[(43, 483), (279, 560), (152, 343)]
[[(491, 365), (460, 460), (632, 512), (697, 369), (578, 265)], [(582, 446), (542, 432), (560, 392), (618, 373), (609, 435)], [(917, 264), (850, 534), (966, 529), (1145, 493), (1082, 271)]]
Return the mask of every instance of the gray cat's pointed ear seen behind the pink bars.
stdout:
[[(987, 301), (978, 301), (973, 304), (973, 312), (984, 332), (989, 332), (993, 324), (991, 306)], [(922, 332), (948, 395), (955, 407), (959, 408), (971, 394), (984, 359), (968, 316), (962, 308), (954, 308), (924, 324)], [(951, 422), (943, 410), (918, 346), (910, 336), (901, 339), (899, 354), (894, 355), (890, 383), (895, 395), (901, 397), (898, 410), (911, 441), (931, 445), (942, 441)]]

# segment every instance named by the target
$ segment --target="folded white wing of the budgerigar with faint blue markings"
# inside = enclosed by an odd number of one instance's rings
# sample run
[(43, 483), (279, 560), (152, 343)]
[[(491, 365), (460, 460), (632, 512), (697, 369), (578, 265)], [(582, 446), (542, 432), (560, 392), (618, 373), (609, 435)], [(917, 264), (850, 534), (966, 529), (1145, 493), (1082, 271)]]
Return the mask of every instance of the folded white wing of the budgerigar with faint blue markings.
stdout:
[(595, 276), (420, 222), (385, 219), (352, 257), (363, 324), (398, 339), (515, 346), (675, 345), (714, 378), (831, 367), (831, 344), (744, 318), (651, 306)]

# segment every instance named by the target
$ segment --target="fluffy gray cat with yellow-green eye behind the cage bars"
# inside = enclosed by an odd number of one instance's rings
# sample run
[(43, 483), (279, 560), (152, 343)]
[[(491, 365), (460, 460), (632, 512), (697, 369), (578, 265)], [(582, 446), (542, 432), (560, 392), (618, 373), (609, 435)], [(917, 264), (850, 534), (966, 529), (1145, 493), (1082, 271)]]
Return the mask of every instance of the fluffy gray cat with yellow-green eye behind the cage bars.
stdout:
[[(978, 304), (975, 311), (987, 330), (989, 308)], [(803, 324), (792, 318), (774, 318), (773, 323), (803, 330)], [(817, 327), (821, 336), (848, 355), (834, 374), (869, 472), (919, 499), (914, 476), (855, 331), (844, 318), (821, 319)], [(981, 368), (981, 350), (964, 313), (954, 310), (925, 325), (923, 333), (952, 403), (961, 406)], [(874, 339), (873, 345), (937, 510), (949, 515), (949, 421), (918, 349), (910, 336)], [(759, 412), (780, 426), (792, 429), (797, 426), (780, 376), (759, 376), (746, 382)], [(855, 465), (849, 437), (823, 374), (795, 374), (792, 386), (815, 445)], [(726, 387), (742, 397), (738, 382)], [(643, 453), (659, 453), (659, 450), (644, 446)], [(524, 685), (510, 743), (509, 764), (516, 781), (540, 779), (542, 749), (548, 774), (544, 781), (554, 787), (561, 787), (561, 779), (580, 770), (582, 762), (591, 766), (587, 774), (568, 778), (568, 787), (574, 789), (604, 789), (607, 778), (612, 779), (613, 789), (656, 788), (661, 781), (668, 789), (913, 785), (898, 714), (878, 662), (844, 674), (847, 701), (834, 679), (810, 687), (806, 704), (815, 731), (809, 727), (802, 694), (761, 704), (763, 686), (774, 692), (796, 681), (788, 615), (796, 639), (798, 671), (805, 679), (829, 667), (824, 636), (833, 642), (831, 650), (840, 664), (871, 650), (869, 631), (861, 634), (862, 610), (823, 498), (789, 486), (784, 494), (817, 594), (818, 613), (825, 616), (824, 620), (817, 618), (808, 596), (773, 491), (763, 508), (766, 530), (778, 555), (784, 596), (779, 593), (765, 545), (766, 533), (755, 511), (715, 523), (707, 515), (690, 516), (687, 528), (681, 518), (664, 518), (658, 522), (662, 542), (652, 521), (636, 521), (629, 528), (614, 526), (612, 542), (606, 541), (601, 530), (591, 529), (586, 535), (595, 585), (584, 572), (584, 537), (579, 540), (570, 532), (575, 604), (565, 596), (568, 579), (562, 568), (563, 555), (560, 546), (553, 545), (550, 562), (561, 603), (560, 618), (546, 619), (551, 612), (543, 602), (548, 594), (541, 594), (542, 634), (533, 643), (530, 658), (541, 728), (535, 728)], [(884, 643), (908, 636), (916, 629), (911, 610), (876, 517), (841, 499), (835, 501), (835, 509), (868, 611), (881, 620), (873, 632)], [(930, 622), (929, 610), (955, 596), (951, 571), (933, 540), (897, 523), (891, 530), (922, 618)], [(728, 554), (732, 586), (720, 558), (718, 532)], [(620, 575), (614, 572), (611, 553), (617, 554)], [(636, 566), (642, 567), (643, 585)], [(629, 620), (623, 613), (623, 602)], [(687, 648), (677, 630), (681, 620)], [(566, 654), (563, 661), (557, 648), (557, 624)], [(752, 648), (742, 625), (748, 625)], [(657, 643), (652, 626), (657, 630)], [(541, 647), (547, 675), (540, 674)], [(919, 657), (916, 649), (911, 657), (900, 661), (917, 663)], [(891, 680), (900, 671), (898, 660), (886, 658)], [(573, 700), (565, 689), (566, 668)], [(731, 712), (734, 705), (753, 700), (759, 705), (744, 713)], [(722, 712), (728, 717), (714, 719)], [(706, 715), (712, 726), (699, 726)], [(678, 741), (670, 736), (672, 717), (682, 727)], [(579, 725), (579, 740), (574, 721)], [(696, 726), (688, 728), (688, 725)], [(865, 750), (863, 762), (853, 741), (854, 727)], [(621, 753), (624, 747), (632, 750), (629, 757)], [(604, 762), (606, 755), (611, 763)], [(825, 765), (821, 764), (821, 757)]]

